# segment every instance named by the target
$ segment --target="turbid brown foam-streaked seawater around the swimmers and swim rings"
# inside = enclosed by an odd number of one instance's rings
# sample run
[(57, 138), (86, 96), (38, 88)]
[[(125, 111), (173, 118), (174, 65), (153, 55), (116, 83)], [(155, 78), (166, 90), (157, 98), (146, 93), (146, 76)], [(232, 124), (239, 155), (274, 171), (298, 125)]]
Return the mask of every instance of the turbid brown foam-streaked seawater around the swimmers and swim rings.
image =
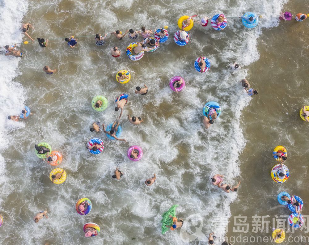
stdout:
[[(189, 218), (188, 234), (195, 233), (203, 222), (201, 232), (205, 236), (215, 231), (221, 238), (225, 217), (233, 219), (241, 214), (250, 220), (254, 214), (270, 218), (289, 215), (276, 201), (277, 193), (283, 190), (303, 198), (306, 215), (308, 125), (298, 113), (303, 104), (309, 104), (304, 87), (308, 23), (292, 20), (278, 25), (276, 15), (283, 3), (29, 1), (23, 22), (34, 25), (29, 32), (32, 38), (49, 39), (50, 46), (42, 49), (37, 42), (20, 46), (25, 57), (19, 62), (14, 81), (23, 86), (24, 95), (13, 101), (9, 112), (22, 107), (20, 99), (33, 115), (22, 126), (7, 123), (15, 129), (5, 135), (9, 147), (2, 151), (6, 166), (0, 195), (0, 209), (6, 212), (0, 228), (2, 243), (187, 244), (180, 231), (161, 235), (161, 215), (174, 204), (180, 205), (176, 209), (179, 218)], [(284, 10), (297, 13), (306, 7), (300, 1), (290, 2)], [(181, 15), (211, 17), (221, 11), (228, 17), (224, 31), (195, 24), (188, 45), (174, 43), (172, 36)], [(229, 18), (247, 11), (263, 15), (252, 30), (244, 28), (239, 18)], [(140, 29), (143, 25), (151, 29), (168, 25), (170, 37), (140, 61), (125, 56), (125, 48), (132, 42), (128, 37), (116, 40), (108, 36), (104, 46), (95, 45), (95, 34)], [(75, 49), (64, 41), (70, 35), (78, 38)], [(113, 46), (119, 47), (121, 58), (111, 57)], [(199, 74), (193, 67), (199, 55), (210, 59), (207, 74)], [(230, 61), (238, 61), (242, 69), (232, 74)], [(44, 65), (57, 69), (57, 73), (44, 74)], [(132, 75), (125, 85), (115, 81), (116, 72), (122, 69)], [(179, 95), (168, 85), (174, 75), (186, 80), (186, 88)], [(239, 83), (243, 78), (258, 89), (259, 95), (246, 95)], [(135, 87), (144, 83), (149, 87), (148, 94), (135, 95)], [(116, 119), (119, 112), (114, 111), (113, 101), (121, 93), (129, 93), (121, 118), (121, 138), (128, 143), (110, 141), (103, 133), (89, 131), (97, 120), (107, 125)], [(91, 99), (98, 94), (108, 99), (103, 113), (91, 108)], [(221, 104), (222, 115), (205, 130), (202, 108), (210, 100)], [(130, 125), (128, 113), (145, 118), (145, 122)], [(104, 151), (98, 156), (86, 149), (92, 137), (104, 141)], [(60, 167), (68, 177), (61, 185), (51, 183), (49, 172), (53, 167), (34, 154), (34, 144), (41, 141), (63, 154)], [(141, 161), (129, 161), (126, 151), (130, 145), (142, 147)], [(271, 151), (277, 145), (288, 150), (286, 165), (291, 175), (284, 184), (275, 184), (270, 178), (270, 169), (277, 163)], [(117, 166), (124, 173), (120, 181), (111, 177)], [(144, 181), (153, 173), (158, 179), (148, 188)], [(242, 180), (237, 195), (224, 194), (211, 185), (210, 177), (217, 173), (224, 174), (229, 183)], [(93, 204), (87, 216), (78, 215), (74, 209), (81, 197), (88, 197)], [(32, 218), (44, 209), (49, 210), (49, 219), (35, 224)], [(97, 237), (84, 237), (86, 222), (99, 224)], [(235, 235), (229, 228), (227, 235)], [(303, 233), (297, 231), (293, 236), (297, 234)], [(207, 243), (205, 237), (199, 238), (200, 242), (191, 239), (190, 244)]]

